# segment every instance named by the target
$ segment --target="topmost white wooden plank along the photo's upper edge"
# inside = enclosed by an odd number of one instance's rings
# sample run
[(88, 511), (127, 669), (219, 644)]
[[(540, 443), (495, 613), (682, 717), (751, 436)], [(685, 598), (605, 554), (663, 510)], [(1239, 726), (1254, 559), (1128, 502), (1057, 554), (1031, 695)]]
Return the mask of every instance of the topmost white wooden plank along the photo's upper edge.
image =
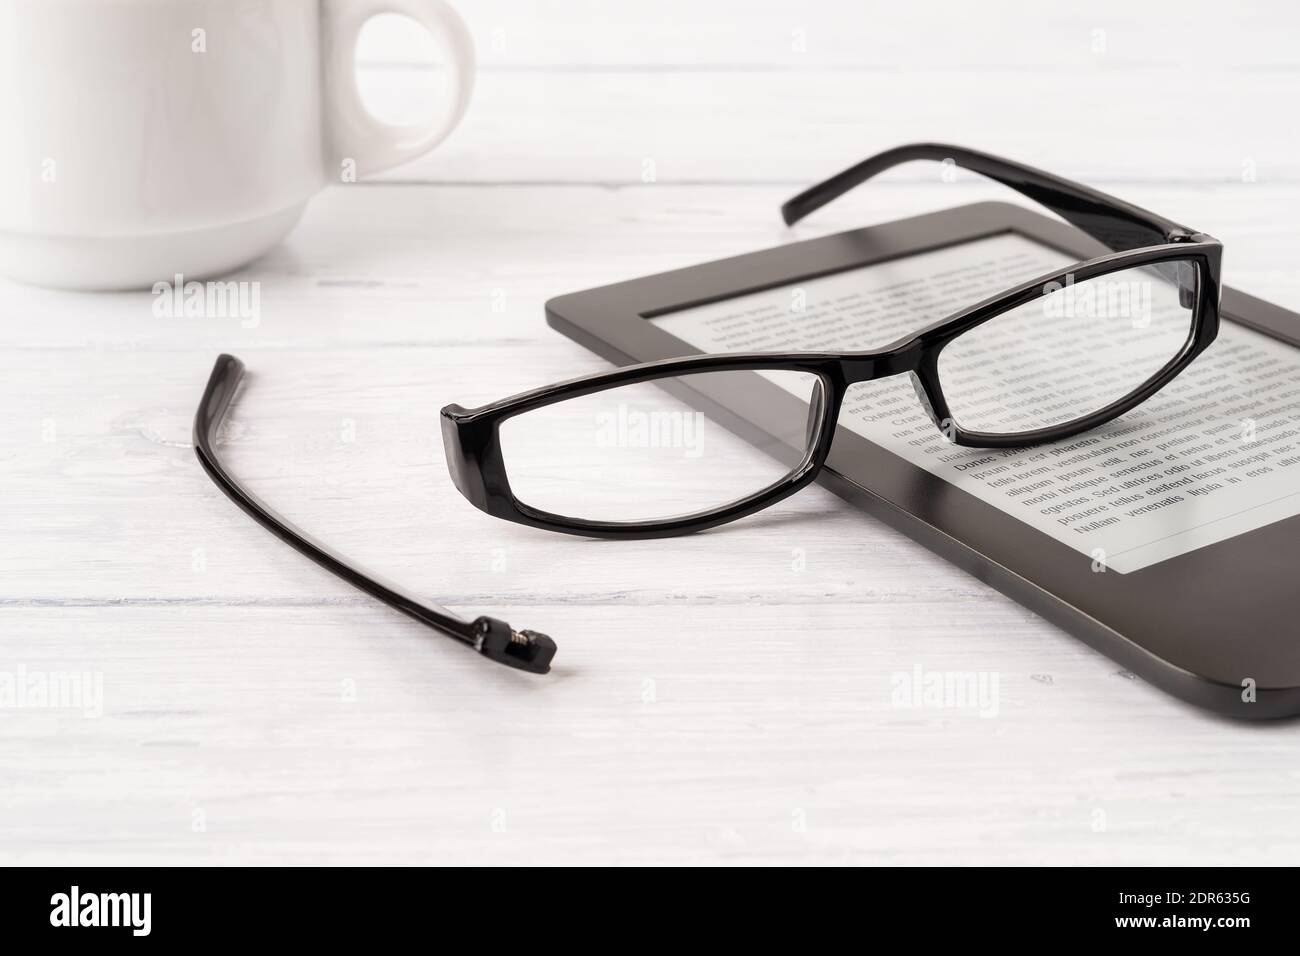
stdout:
[[(485, 72), (1257, 70), (1300, 66), (1278, 0), (476, 0), (462, 4)], [(422, 65), (437, 46), (400, 18), (370, 25), (363, 65)]]

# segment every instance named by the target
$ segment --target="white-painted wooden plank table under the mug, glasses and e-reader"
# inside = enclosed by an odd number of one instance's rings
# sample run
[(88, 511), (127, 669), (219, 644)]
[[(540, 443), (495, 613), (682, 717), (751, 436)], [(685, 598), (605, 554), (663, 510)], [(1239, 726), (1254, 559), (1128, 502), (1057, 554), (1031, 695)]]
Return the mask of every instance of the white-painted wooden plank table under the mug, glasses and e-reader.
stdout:
[[(911, 166), (780, 226), (798, 187), (915, 139), (1192, 222), (1228, 284), (1300, 308), (1294, 9), (462, 7), (464, 126), (322, 194), (238, 276), (256, 328), (0, 285), (0, 671), (103, 679), (99, 717), (0, 709), (0, 861), (1300, 861), (1294, 724), (1186, 706), (820, 488), (668, 541), (493, 520), (437, 423), (602, 367), (550, 295), (1002, 196)], [(377, 27), (367, 88), (413, 112), (422, 55)], [(550, 632), (552, 675), (430, 637), (237, 511), (190, 447), (220, 351), (251, 371), (229, 451), (260, 494)], [(996, 672), (997, 714), (893, 705), (916, 666)]]

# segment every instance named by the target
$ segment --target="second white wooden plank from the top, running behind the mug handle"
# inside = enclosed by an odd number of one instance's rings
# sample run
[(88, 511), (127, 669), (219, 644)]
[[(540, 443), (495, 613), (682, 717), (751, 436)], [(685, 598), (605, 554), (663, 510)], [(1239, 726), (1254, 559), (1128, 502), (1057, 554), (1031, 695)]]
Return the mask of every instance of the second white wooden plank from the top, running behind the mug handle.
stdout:
[[(1300, 99), (1295, 69), (1192, 74), (1193, 96), (1162, 88), (1175, 77), (1122, 70), (598, 77), (484, 73), (464, 126), (445, 147), (381, 178), (621, 185), (653, 174), (658, 182), (802, 186), (879, 150), (936, 140), (978, 143), (1096, 183), (1300, 182), (1300, 127), (1273, 112)], [(437, 74), (367, 69), (361, 88), (413, 117), (434, 95)], [(918, 164), (893, 176), (935, 173)]]

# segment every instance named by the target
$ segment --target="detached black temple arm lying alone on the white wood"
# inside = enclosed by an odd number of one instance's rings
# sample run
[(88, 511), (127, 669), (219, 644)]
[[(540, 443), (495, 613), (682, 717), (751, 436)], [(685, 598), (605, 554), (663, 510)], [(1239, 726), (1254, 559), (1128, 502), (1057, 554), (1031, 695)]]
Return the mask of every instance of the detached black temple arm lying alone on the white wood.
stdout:
[(546, 635), (536, 631), (515, 631), (504, 620), (497, 618), (478, 617), (473, 620), (465, 620), (446, 607), (420, 601), (400, 588), (363, 574), (240, 486), (217, 457), (216, 437), (234, 399), (235, 389), (239, 388), (239, 381), (243, 378), (243, 363), (234, 355), (218, 356), (217, 364), (212, 368), (212, 376), (208, 378), (208, 386), (203, 390), (203, 401), (194, 416), (194, 451), (199, 457), (203, 470), (208, 472), (208, 477), (230, 501), (272, 535), (326, 571), (332, 571), (352, 587), (360, 588), (367, 594), (415, 618), (426, 627), (455, 637), (484, 657), (533, 674), (546, 674), (551, 669), (555, 641)]

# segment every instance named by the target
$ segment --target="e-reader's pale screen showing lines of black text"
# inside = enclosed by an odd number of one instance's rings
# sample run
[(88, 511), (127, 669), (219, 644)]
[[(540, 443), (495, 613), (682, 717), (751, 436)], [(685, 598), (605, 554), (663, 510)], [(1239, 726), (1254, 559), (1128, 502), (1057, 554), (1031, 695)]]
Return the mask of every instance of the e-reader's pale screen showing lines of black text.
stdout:
[[(879, 349), (1071, 261), (1006, 232), (647, 321), (706, 352)], [(1167, 303), (1140, 285), (1126, 295), (1134, 328), (1157, 334)], [(1106, 307), (1060, 300), (1065, 308)], [(1004, 342), (993, 324), (984, 336), (1014, 355), (1031, 345), (1078, 349), (1086, 328), (1044, 321), (1032, 343), (1011, 325)], [(1053, 339), (1065, 336), (1075, 341)], [(1084, 346), (1093, 365), (1122, 371), (1143, 360), (1134, 342), (1095, 334)], [(1086, 389), (1087, 378), (1060, 388)], [(952, 445), (906, 376), (855, 385), (838, 424), (1127, 574), (1300, 514), (1297, 403), (1300, 350), (1225, 323), (1210, 349), (1152, 399), (1066, 441), (1009, 450)]]

